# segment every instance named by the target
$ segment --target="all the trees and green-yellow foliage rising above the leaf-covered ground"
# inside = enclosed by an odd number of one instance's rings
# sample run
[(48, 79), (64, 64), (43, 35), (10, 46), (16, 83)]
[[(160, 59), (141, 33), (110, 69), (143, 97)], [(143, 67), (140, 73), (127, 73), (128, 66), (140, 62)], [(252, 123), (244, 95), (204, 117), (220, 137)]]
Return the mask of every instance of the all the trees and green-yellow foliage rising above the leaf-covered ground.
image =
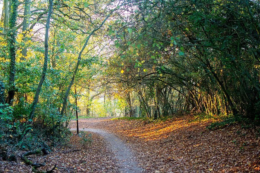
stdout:
[(0, 21), (2, 158), (76, 114), (259, 124), (257, 0), (4, 0)]

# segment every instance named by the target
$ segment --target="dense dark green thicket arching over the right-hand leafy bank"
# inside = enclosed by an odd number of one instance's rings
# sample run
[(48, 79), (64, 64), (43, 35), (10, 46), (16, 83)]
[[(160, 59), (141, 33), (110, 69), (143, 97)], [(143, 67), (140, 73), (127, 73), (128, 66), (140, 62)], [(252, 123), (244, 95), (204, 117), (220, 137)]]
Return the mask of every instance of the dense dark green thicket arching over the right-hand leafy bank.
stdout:
[(137, 95), (125, 91), (130, 112), (137, 99), (149, 117), (192, 112), (259, 120), (259, 5), (203, 0), (136, 6), (117, 33), (123, 38), (116, 40), (119, 59), (112, 63), (124, 72), (116, 81)]

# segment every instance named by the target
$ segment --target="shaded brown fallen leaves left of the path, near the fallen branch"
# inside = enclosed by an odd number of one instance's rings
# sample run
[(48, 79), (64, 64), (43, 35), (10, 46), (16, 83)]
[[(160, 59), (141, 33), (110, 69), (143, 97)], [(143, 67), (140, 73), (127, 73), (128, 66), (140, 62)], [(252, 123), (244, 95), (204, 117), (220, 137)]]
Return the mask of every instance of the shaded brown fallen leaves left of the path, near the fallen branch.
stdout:
[[(39, 170), (49, 170), (57, 165), (58, 169), (54, 172), (118, 172), (114, 154), (107, 148), (107, 142), (95, 133), (91, 134), (93, 141), (90, 144), (81, 143), (80, 137), (73, 133), (68, 145), (52, 148), (46, 157), (38, 154), (29, 158), (38, 163), (45, 162), (46, 166)], [(31, 172), (31, 167), (22, 160), (0, 161), (0, 172)]]

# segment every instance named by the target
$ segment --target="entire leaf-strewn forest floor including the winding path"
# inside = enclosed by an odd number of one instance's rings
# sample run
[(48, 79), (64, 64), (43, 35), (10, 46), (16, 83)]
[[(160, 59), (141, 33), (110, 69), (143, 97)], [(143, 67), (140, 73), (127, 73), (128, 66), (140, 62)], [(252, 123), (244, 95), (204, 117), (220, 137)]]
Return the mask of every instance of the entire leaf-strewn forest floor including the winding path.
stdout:
[[(208, 130), (209, 124), (190, 117), (79, 119), (80, 136), (73, 131), (68, 144), (29, 159), (45, 162), (40, 170), (57, 165), (54, 172), (259, 172), (259, 129), (228, 125)], [(69, 126), (75, 129), (76, 122)], [(0, 172), (31, 172), (31, 167), (18, 158), (0, 161)]]

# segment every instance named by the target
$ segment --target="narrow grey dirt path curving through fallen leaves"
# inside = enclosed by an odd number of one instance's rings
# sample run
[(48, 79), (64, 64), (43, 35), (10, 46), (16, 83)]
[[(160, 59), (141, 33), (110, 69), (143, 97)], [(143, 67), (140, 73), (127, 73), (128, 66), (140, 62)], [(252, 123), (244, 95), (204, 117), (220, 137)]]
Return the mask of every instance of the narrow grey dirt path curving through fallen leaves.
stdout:
[[(71, 130), (77, 130), (72, 128)], [(142, 168), (138, 167), (136, 157), (132, 154), (131, 150), (129, 149), (123, 141), (117, 138), (115, 135), (109, 133), (106, 130), (95, 129), (95, 128), (80, 128), (80, 131), (89, 131), (98, 133), (100, 136), (105, 138), (105, 140), (109, 143), (109, 148), (115, 153), (116, 160), (120, 166), (121, 172), (127, 173), (139, 173), (142, 172)]]

